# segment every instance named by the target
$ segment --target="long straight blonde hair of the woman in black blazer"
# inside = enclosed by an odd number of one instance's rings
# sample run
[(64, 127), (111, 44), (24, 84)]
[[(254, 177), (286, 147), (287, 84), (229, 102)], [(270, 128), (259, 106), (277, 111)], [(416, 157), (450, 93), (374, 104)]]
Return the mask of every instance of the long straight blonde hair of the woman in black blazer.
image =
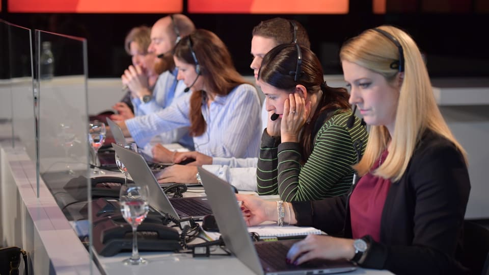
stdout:
[[(391, 64), (399, 60), (399, 50), (385, 35), (367, 30), (347, 41), (341, 48), (340, 59), (355, 63), (373, 72), (382, 74), (390, 85), (402, 81), (399, 91), (397, 113), (392, 137), (385, 126), (372, 126), (362, 160), (354, 167), (363, 176), (387, 148), (389, 155), (373, 174), (398, 181), (404, 174), (413, 156), (416, 145), (425, 130), (429, 129), (450, 140), (464, 156), (464, 148), (456, 141), (438, 109), (433, 96), (428, 71), (414, 40), (405, 32), (391, 26), (377, 29), (391, 34), (404, 52), (404, 76), (398, 74)], [(387, 144), (391, 139), (389, 147)]]

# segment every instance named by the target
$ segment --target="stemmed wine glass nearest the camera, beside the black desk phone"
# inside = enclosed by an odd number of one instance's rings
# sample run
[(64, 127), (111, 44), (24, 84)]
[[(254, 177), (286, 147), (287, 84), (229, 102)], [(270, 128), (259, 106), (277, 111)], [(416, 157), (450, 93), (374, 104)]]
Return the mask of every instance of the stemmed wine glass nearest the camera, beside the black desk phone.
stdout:
[(120, 205), (124, 219), (132, 226), (132, 255), (123, 261), (125, 265), (146, 264), (148, 261), (141, 258), (138, 252), (137, 229), (146, 218), (149, 211), (148, 186), (139, 186), (127, 183), (121, 186)]

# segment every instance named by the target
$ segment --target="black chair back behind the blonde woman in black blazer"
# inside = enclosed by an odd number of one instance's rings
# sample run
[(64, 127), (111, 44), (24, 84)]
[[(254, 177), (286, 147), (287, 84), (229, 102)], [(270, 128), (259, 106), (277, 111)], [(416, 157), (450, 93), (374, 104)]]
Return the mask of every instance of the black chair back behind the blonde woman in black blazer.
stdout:
[(489, 275), (489, 228), (474, 221), (464, 221), (464, 255), (462, 264), (471, 274)]

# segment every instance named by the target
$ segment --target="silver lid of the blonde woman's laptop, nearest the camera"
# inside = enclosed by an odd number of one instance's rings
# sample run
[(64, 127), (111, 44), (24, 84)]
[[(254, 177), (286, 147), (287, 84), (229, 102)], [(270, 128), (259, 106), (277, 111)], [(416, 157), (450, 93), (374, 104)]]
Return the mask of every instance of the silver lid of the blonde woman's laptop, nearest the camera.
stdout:
[(256, 274), (263, 274), (232, 186), (202, 167), (197, 169), (226, 247)]

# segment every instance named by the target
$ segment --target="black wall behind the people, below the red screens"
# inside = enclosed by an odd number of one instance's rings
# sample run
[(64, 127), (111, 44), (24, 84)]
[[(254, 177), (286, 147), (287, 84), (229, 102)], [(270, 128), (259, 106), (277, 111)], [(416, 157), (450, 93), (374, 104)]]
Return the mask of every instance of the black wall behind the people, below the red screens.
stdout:
[[(346, 39), (368, 28), (392, 24), (410, 33), (417, 41), (426, 56), (431, 77), (489, 77), (487, 2), (387, 0), (386, 14), (373, 14), (372, 3), (368, 0), (350, 0), (349, 13), (345, 15), (184, 14), (197, 28), (216, 33), (228, 45), (238, 71), (245, 75), (252, 74), (249, 64), (253, 27), (262, 20), (280, 16), (304, 25), (311, 48), (327, 74), (342, 73), (338, 52)], [(127, 32), (142, 24), (151, 27), (166, 15), (8, 13), (6, 0), (2, 5), (0, 18), (11, 23), (32, 30), (86, 37), (90, 78), (120, 77), (130, 64), (123, 48)], [(186, 1), (183, 5), (185, 11)]]

